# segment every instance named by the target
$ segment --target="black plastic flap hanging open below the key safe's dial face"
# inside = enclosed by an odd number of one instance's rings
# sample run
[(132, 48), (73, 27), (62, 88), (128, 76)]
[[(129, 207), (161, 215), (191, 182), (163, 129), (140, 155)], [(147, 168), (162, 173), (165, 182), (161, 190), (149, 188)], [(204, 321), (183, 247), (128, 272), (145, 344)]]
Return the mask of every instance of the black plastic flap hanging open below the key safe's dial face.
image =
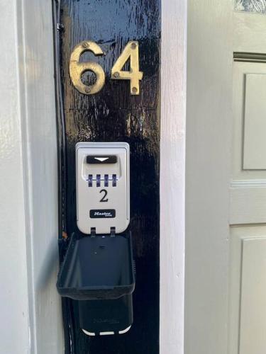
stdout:
[(63, 297), (118, 299), (135, 288), (131, 234), (72, 235), (57, 279)]

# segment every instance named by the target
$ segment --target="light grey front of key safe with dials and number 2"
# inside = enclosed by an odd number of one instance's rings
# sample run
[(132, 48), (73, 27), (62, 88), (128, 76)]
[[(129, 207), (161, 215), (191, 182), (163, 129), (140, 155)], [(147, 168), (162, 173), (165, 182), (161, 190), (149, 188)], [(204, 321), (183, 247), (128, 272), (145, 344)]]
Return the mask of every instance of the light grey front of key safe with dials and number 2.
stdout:
[(76, 145), (77, 226), (84, 234), (120, 233), (129, 223), (129, 145)]

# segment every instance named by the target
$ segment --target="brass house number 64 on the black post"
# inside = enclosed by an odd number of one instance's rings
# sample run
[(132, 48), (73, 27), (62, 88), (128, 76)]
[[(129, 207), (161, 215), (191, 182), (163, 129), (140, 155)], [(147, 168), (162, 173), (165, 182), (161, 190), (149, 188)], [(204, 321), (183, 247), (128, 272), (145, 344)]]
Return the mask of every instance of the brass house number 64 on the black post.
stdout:
[[(80, 56), (84, 52), (92, 52), (94, 55), (104, 55), (101, 47), (95, 42), (85, 40), (74, 47), (70, 56), (70, 79), (74, 87), (84, 95), (93, 95), (101, 91), (105, 83), (104, 69), (101, 65), (94, 62), (79, 62)], [(122, 71), (127, 60), (130, 59), (130, 71)], [(84, 72), (93, 72), (96, 75), (96, 81), (93, 85), (84, 85), (82, 74)], [(111, 69), (111, 79), (130, 80), (131, 95), (140, 94), (140, 80), (143, 78), (143, 72), (139, 70), (138, 42), (130, 41), (124, 48), (120, 57), (116, 60)]]

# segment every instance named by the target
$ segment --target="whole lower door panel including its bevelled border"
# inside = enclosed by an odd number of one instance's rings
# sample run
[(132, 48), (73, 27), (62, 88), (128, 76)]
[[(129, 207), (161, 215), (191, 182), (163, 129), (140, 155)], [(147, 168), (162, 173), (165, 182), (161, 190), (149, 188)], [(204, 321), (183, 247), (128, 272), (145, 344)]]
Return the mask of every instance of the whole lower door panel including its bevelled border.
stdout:
[(266, 348), (266, 226), (231, 228), (229, 354)]

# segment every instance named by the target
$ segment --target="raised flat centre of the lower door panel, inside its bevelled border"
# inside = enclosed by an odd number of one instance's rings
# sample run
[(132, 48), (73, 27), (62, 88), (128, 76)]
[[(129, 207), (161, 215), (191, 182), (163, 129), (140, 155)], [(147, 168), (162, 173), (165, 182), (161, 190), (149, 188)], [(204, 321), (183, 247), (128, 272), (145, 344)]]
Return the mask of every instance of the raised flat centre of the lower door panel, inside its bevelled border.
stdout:
[(266, 236), (242, 247), (239, 354), (265, 354)]

